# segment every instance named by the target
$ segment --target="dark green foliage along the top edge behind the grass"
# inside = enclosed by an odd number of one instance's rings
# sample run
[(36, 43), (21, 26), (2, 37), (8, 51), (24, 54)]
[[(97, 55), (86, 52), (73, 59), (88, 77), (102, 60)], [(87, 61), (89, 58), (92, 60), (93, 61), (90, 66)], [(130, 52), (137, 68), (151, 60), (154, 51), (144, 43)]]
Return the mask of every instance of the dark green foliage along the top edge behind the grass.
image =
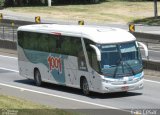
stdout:
[[(93, 4), (101, 2), (145, 2), (154, 0), (52, 0), (52, 5), (64, 4)], [(160, 0), (157, 0), (160, 1)], [(48, 0), (0, 0), (0, 6), (13, 7), (13, 6), (42, 6), (47, 5)]]

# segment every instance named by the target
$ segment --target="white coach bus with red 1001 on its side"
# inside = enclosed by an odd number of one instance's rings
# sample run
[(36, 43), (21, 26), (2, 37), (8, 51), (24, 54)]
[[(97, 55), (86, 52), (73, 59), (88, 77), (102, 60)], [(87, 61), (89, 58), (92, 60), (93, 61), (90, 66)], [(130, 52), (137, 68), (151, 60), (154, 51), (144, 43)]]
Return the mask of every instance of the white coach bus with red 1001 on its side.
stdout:
[(139, 45), (110, 27), (38, 24), (18, 28), (19, 74), (37, 86), (49, 82), (99, 93), (143, 88)]

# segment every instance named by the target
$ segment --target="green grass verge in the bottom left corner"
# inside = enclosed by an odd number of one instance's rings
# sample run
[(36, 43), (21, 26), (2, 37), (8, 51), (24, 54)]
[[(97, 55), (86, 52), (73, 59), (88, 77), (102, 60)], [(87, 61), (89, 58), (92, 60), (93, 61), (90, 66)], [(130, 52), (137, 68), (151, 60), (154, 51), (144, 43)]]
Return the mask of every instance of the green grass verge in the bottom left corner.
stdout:
[(2, 115), (75, 115), (75, 113), (5, 95), (0, 95), (0, 112)]

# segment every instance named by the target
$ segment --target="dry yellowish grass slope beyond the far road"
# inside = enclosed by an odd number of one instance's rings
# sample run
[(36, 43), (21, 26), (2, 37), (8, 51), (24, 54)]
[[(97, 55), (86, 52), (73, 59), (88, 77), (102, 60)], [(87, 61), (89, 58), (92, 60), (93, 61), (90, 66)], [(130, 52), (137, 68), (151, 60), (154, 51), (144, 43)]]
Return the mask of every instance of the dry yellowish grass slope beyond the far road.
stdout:
[[(132, 2), (134, 1), (134, 2)], [(85, 20), (91, 23), (123, 23), (130, 22), (159, 25), (160, 18), (153, 18), (153, 1), (137, 2), (138, 0), (106, 0), (99, 4), (53, 5), (52, 7), (8, 7), (4, 10), (24, 15), (65, 21)], [(160, 4), (158, 3), (158, 12)], [(32, 13), (31, 13), (32, 12)]]

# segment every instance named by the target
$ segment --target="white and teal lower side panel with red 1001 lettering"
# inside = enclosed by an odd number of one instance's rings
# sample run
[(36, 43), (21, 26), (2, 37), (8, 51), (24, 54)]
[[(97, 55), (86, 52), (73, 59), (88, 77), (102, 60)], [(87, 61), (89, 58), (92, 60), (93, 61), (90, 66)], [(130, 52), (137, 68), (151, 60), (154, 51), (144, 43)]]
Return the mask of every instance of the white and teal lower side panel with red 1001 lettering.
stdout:
[(18, 47), (18, 50), (20, 75), (34, 79), (34, 69), (37, 68), (42, 81), (80, 87), (77, 57), (26, 50), (21, 47)]

